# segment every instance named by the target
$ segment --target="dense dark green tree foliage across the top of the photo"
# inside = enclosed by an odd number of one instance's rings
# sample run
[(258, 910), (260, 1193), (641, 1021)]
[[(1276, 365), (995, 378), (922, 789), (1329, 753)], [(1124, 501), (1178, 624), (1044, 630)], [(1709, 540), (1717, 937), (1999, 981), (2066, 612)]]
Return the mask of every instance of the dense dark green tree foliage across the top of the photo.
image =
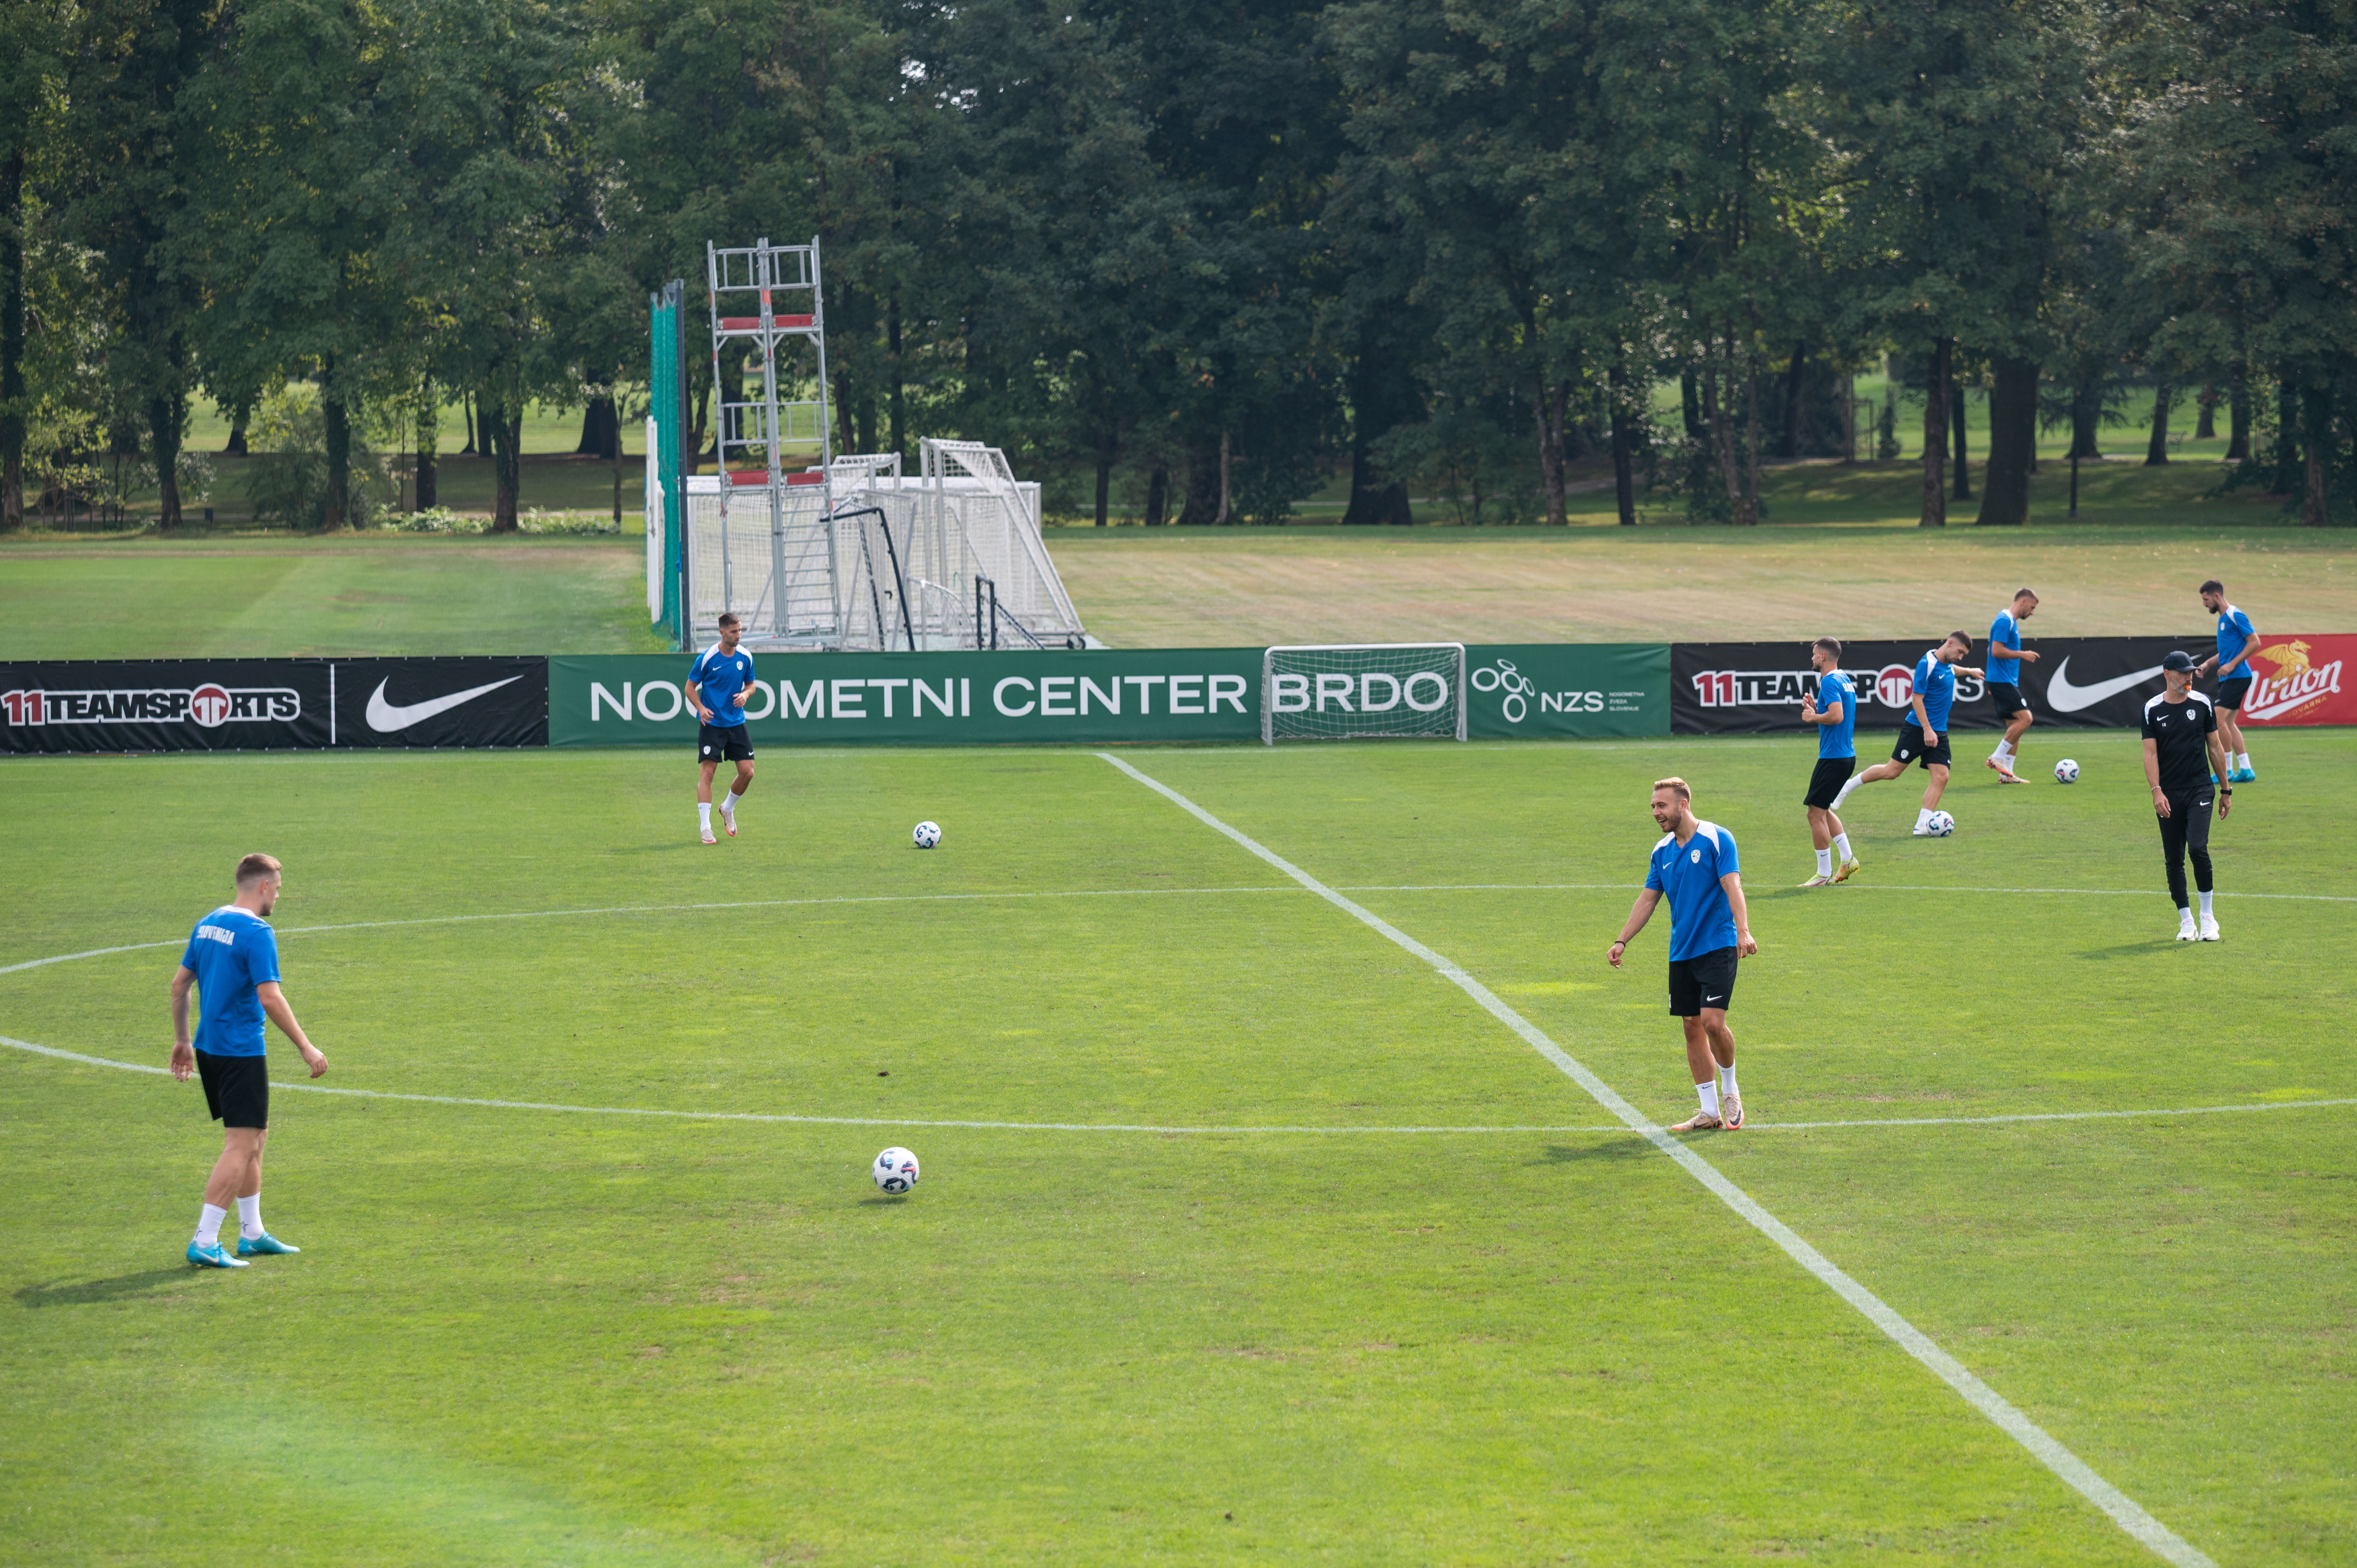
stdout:
[(290, 380), (335, 476), (311, 521), (349, 521), (356, 441), (455, 391), (511, 523), (528, 401), (610, 446), (646, 292), (700, 309), (707, 241), (811, 233), (839, 448), (985, 436), (1091, 469), (1101, 519), (1122, 486), (1275, 521), (1348, 467), (1353, 521), (1412, 488), (1563, 521), (1610, 450), (1624, 516), (1650, 479), (1756, 521), (1765, 460), (1871, 453), (1848, 375), (1886, 361), (1926, 391), (1926, 523), (1970, 493), (1963, 384), (1980, 521), (2022, 521), (2041, 420), (2093, 431), (2124, 380), (2152, 462), (2199, 398), (2237, 481), (2310, 523), (2352, 490), (2350, 0), (0, 17), (9, 523), (99, 450), (174, 474), (193, 396), (243, 429)]

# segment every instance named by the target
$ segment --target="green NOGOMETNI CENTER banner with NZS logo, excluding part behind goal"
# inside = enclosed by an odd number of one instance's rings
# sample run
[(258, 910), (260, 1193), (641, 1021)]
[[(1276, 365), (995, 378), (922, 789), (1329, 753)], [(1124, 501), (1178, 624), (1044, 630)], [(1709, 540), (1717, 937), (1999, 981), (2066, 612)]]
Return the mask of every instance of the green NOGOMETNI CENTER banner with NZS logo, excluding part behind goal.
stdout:
[[(1468, 646), (1475, 736), (1666, 736), (1664, 644)], [(695, 745), (688, 655), (549, 660), (549, 745)], [(1259, 740), (1261, 648), (757, 653), (761, 745)]]

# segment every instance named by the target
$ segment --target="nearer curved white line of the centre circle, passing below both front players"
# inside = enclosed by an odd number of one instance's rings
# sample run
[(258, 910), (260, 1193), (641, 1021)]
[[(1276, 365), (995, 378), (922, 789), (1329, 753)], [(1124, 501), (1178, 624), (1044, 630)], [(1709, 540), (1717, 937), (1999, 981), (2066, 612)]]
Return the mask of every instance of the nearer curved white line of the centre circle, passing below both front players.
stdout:
[[(167, 1068), (148, 1066), (141, 1061), (113, 1061), (111, 1056), (85, 1056), (82, 1052), (66, 1052), (54, 1045), (35, 1045), (31, 1040), (14, 1040), (0, 1035), (0, 1045), (31, 1052), (35, 1056), (54, 1056), (57, 1061), (80, 1061), (92, 1068), (118, 1068), (123, 1073), (165, 1073)], [(1398, 1134), (1532, 1134), (1532, 1132), (1586, 1132), (1586, 1134), (1629, 1134), (1638, 1132), (1624, 1122), (1612, 1122), (1605, 1127), (1572, 1127), (1572, 1125), (1442, 1125), (1442, 1122), (1409, 1122), (1398, 1127), (1282, 1127), (1266, 1122), (1197, 1122), (1193, 1127), (1169, 1125), (1169, 1122), (983, 1122), (983, 1120), (922, 1120), (905, 1115), (794, 1115), (785, 1111), (655, 1111), (646, 1106), (566, 1106), (556, 1101), (537, 1099), (476, 1099), (464, 1094), (398, 1094), (394, 1089), (344, 1089), (318, 1082), (278, 1082), (273, 1089), (299, 1089), (306, 1094), (346, 1094), (356, 1099), (398, 1099), (417, 1106), (495, 1106), (500, 1111), (563, 1111), (568, 1115), (667, 1115), (686, 1122), (787, 1122), (787, 1125), (811, 1125), (811, 1127), (971, 1127), (988, 1132), (1155, 1132), (1155, 1134), (1202, 1134), (1202, 1137), (1237, 1137), (1237, 1134), (1285, 1134), (1285, 1137), (1348, 1137), (1348, 1134), (1372, 1134), (1372, 1137), (1398, 1137)], [(2260, 1101), (2251, 1106), (2164, 1106), (2154, 1111), (2008, 1111), (2001, 1115), (1893, 1115), (1876, 1120), (1841, 1120), (1841, 1122), (1765, 1122), (1751, 1118), (1744, 1122), (1744, 1132), (1829, 1132), (1836, 1127), (2003, 1127), (2011, 1122), (2143, 1122), (2164, 1115), (2230, 1115), (2242, 1111), (2317, 1111), (2326, 1106), (2357, 1106), (2357, 1099), (2277, 1099)]]

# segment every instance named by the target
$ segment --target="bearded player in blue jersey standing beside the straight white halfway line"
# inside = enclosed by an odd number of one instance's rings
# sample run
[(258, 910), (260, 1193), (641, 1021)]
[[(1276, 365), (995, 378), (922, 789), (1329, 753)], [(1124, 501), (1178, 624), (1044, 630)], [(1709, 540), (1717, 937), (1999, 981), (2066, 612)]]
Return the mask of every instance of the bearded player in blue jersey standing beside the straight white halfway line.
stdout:
[(1702, 1111), (1671, 1132), (1732, 1132), (1744, 1125), (1744, 1099), (1735, 1089), (1728, 1004), (1735, 1000), (1735, 960), (1761, 950), (1744, 913), (1735, 835), (1695, 816), (1695, 792), (1683, 778), (1664, 778), (1652, 788), (1652, 823), (1662, 830), (1662, 842), (1645, 865), (1645, 891), (1636, 896), (1605, 962), (1619, 969), (1629, 938), (1669, 898), (1669, 1012), (1685, 1026), (1685, 1066), (1702, 1096)]

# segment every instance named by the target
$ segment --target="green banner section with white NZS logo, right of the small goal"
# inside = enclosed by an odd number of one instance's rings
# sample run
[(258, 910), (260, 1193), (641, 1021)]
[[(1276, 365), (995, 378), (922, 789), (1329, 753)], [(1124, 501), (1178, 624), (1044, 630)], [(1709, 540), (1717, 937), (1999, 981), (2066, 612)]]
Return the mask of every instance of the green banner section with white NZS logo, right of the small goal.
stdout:
[(1664, 736), (1669, 644), (1468, 644), (1471, 733)]

